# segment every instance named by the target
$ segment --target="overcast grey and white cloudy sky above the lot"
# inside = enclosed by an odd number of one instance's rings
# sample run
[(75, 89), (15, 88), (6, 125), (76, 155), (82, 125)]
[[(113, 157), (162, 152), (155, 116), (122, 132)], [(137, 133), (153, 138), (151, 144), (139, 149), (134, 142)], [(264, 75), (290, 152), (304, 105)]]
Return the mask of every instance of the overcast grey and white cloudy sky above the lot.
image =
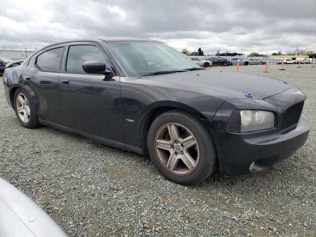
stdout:
[(316, 0), (2, 0), (0, 47), (100, 36), (204, 53), (316, 51)]

